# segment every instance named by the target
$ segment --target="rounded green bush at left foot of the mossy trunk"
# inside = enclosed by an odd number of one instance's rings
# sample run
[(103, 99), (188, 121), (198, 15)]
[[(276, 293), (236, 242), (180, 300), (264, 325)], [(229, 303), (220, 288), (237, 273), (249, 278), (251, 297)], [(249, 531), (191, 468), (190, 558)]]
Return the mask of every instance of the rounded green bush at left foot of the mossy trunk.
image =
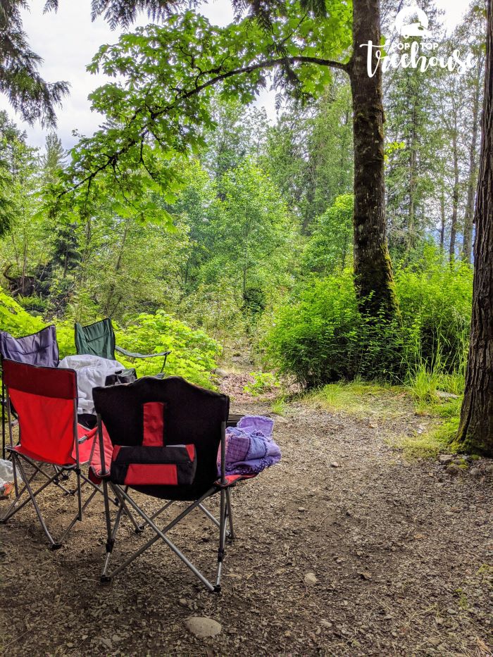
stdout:
[(306, 387), (357, 376), (391, 375), (400, 333), (384, 321), (371, 325), (358, 312), (350, 271), (314, 280), (281, 306), (268, 334), (268, 352), (283, 374)]

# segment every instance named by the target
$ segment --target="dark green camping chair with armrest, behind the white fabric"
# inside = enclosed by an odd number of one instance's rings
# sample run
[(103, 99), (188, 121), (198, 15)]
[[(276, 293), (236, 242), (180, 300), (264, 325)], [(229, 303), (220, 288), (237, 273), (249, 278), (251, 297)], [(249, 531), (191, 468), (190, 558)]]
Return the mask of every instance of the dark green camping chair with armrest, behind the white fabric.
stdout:
[[(115, 332), (111, 319), (106, 318), (89, 326), (82, 326), (75, 323), (75, 347), (77, 353), (91, 353), (93, 356), (101, 356), (101, 358), (109, 358), (115, 361), (115, 351), (123, 353), (127, 358), (156, 358), (163, 356), (163, 366), (159, 372), (163, 376), (164, 368), (166, 367), (166, 358), (170, 351), (159, 351), (159, 353), (135, 353), (127, 351), (121, 346), (116, 345)], [(159, 376), (158, 375), (158, 376)]]

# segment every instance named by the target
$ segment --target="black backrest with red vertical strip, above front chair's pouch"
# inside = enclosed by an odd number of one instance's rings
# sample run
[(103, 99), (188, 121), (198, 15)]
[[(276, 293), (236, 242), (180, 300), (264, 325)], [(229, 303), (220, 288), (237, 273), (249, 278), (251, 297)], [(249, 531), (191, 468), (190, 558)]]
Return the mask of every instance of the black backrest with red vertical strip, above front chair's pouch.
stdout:
[(93, 389), (113, 445), (194, 444), (194, 487), (210, 487), (218, 478), (217, 456), (230, 399), (199, 388), (182, 377), (142, 377), (130, 384)]

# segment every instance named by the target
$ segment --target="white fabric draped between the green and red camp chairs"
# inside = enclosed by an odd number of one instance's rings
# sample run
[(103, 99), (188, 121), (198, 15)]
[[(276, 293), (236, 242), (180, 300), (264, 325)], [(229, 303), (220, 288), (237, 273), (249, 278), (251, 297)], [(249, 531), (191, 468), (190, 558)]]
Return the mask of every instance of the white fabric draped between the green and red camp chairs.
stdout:
[(106, 377), (121, 372), (124, 367), (118, 361), (82, 353), (78, 356), (65, 356), (60, 361), (60, 368), (77, 372), (77, 413), (94, 413), (92, 389), (106, 384)]

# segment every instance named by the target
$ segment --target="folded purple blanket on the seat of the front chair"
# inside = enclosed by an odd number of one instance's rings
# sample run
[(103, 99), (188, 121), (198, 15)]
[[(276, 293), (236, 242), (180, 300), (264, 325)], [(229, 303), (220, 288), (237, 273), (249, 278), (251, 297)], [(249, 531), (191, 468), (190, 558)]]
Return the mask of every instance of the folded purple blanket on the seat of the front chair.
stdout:
[(261, 415), (245, 415), (236, 427), (227, 427), (226, 474), (256, 475), (279, 463), (281, 451), (272, 439), (273, 428), (274, 420)]

